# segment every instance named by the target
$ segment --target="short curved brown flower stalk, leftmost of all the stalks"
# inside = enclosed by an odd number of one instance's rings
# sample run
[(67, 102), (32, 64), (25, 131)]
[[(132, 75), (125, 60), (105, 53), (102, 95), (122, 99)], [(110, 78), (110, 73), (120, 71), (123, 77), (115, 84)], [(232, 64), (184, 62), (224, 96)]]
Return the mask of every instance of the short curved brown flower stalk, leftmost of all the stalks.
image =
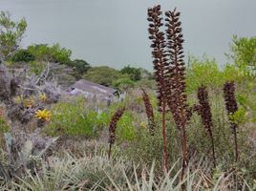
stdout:
[(113, 115), (110, 121), (109, 125), (109, 151), (108, 151), (108, 156), (110, 159), (111, 156), (111, 149), (113, 144), (115, 143), (116, 140), (116, 130), (117, 130), (117, 121), (120, 119), (120, 117), (123, 115), (125, 111), (125, 107), (118, 108), (117, 112)]

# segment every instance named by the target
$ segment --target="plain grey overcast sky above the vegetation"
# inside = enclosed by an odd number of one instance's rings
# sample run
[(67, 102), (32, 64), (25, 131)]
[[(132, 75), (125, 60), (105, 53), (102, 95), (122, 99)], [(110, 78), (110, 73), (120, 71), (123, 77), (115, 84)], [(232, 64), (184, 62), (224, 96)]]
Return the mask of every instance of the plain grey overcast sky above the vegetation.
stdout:
[(256, 36), (256, 0), (0, 0), (0, 11), (25, 17), (23, 47), (60, 43), (73, 58), (117, 69), (152, 71), (147, 9), (181, 11), (184, 53), (227, 62), (232, 36)]

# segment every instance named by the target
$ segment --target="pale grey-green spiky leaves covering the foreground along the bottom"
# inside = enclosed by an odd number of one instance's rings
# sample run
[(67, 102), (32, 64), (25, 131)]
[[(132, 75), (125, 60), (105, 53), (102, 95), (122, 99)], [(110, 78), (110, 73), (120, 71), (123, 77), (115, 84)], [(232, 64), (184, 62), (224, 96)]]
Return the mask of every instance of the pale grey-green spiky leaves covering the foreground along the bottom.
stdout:
[[(95, 150), (98, 150), (96, 148)], [(253, 190), (253, 183), (245, 180), (245, 173), (239, 171), (236, 179), (233, 173), (209, 169), (207, 159), (195, 159), (185, 171), (184, 180), (178, 161), (166, 174), (159, 173), (155, 163), (143, 166), (129, 159), (114, 156), (108, 159), (106, 152), (75, 157), (64, 153), (41, 161), (41, 170), (26, 171), (24, 177), (2, 185), (2, 190), (127, 190), (127, 191), (172, 191), (172, 190)], [(254, 185), (255, 186), (255, 185)]]

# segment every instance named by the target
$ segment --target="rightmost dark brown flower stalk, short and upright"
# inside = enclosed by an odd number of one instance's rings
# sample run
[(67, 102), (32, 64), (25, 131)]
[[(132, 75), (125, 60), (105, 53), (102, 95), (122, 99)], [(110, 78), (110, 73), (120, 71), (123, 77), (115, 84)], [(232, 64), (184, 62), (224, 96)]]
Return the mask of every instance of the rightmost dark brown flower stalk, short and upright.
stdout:
[(224, 83), (224, 101), (225, 109), (230, 121), (230, 128), (233, 131), (234, 141), (235, 141), (235, 161), (238, 161), (238, 143), (237, 143), (237, 128), (238, 124), (235, 123), (230, 116), (234, 115), (238, 111), (237, 101), (235, 97), (235, 83), (233, 81), (227, 81)]

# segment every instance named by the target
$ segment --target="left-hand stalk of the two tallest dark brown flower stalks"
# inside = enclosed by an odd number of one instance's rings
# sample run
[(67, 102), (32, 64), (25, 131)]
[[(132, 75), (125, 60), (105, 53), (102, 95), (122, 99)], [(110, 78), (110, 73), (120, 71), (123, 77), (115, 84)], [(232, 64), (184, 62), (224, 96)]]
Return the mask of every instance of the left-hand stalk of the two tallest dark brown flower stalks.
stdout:
[(152, 56), (154, 58), (154, 74), (156, 76), (157, 88), (158, 88), (158, 104), (161, 113), (161, 128), (163, 138), (163, 154), (164, 154), (164, 169), (168, 171), (168, 153), (167, 153), (167, 139), (166, 139), (166, 68), (168, 63), (166, 62), (166, 55), (164, 53), (165, 39), (164, 32), (160, 32), (162, 23), (162, 12), (160, 11), (160, 5), (148, 9), (149, 21), (149, 39), (152, 41), (151, 48), (153, 48)]

